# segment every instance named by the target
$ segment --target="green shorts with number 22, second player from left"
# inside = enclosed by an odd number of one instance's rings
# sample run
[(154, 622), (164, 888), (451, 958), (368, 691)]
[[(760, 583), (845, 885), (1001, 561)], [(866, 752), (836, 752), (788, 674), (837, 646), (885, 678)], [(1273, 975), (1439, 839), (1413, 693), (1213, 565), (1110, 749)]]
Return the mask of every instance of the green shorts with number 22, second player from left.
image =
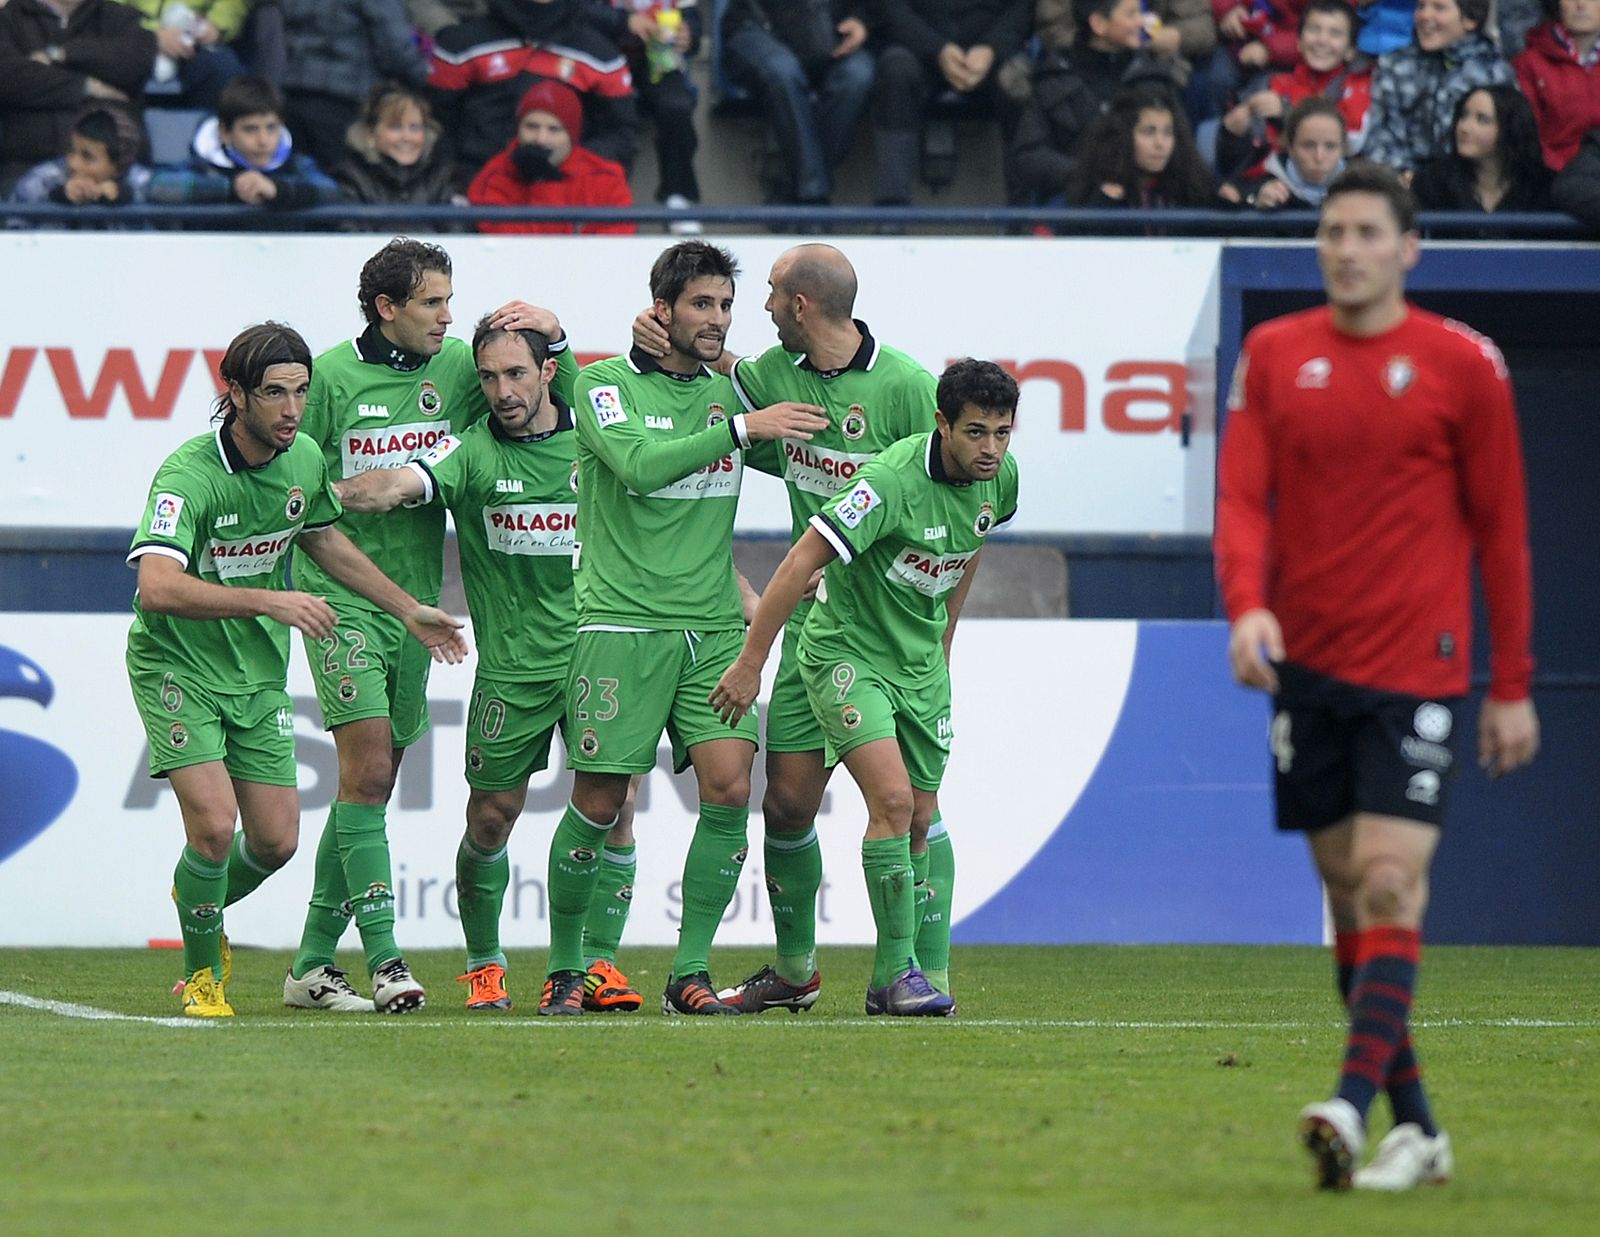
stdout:
[(344, 619), (326, 640), (306, 637), (306, 659), (322, 706), (322, 727), (333, 730), (368, 717), (387, 717), (390, 743), (410, 747), (427, 733), (427, 672), (432, 655), (405, 624), (381, 610), (336, 608)]

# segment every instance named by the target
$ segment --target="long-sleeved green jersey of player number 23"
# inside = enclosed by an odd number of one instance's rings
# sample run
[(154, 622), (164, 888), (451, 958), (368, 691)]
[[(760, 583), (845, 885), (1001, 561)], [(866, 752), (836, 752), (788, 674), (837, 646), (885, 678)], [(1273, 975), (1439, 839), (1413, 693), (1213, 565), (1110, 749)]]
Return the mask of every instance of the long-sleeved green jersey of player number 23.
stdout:
[(579, 627), (736, 631), (744, 475), (733, 384), (637, 349), (578, 374)]

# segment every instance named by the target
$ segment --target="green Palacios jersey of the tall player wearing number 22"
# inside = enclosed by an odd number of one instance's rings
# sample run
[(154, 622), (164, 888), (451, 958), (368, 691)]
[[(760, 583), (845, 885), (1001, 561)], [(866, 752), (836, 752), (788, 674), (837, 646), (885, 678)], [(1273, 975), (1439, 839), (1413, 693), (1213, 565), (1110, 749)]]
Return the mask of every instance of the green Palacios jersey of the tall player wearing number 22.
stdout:
[[(557, 354), (552, 390), (571, 395), (574, 362), (563, 346)], [(563, 384), (560, 357), (566, 357)], [(565, 390), (562, 387), (566, 386)], [(432, 451), (445, 437), (459, 435), (488, 416), (478, 386), (472, 346), (446, 336), (426, 360), (394, 349), (376, 330), (317, 357), (301, 432), (322, 445), (328, 472), (354, 477), (368, 469), (392, 469)], [(419, 602), (438, 602), (443, 579), (445, 510), (437, 504), (384, 514), (352, 512), (341, 523), (366, 557)], [(330, 579), (304, 554), (294, 558), (299, 587), (334, 600), (334, 610), (371, 603)]]

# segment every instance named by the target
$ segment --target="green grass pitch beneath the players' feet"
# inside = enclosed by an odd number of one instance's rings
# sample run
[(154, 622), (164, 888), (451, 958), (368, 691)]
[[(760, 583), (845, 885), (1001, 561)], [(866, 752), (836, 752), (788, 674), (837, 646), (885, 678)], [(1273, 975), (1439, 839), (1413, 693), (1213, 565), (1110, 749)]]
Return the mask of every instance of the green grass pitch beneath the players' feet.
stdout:
[[(539, 1023), (536, 954), (470, 1018), (450, 954), (410, 1018), (285, 1010), (286, 960), (238, 951), (221, 1026), (0, 1005), (0, 1232), (1600, 1231), (1600, 951), (1427, 952), (1458, 1178), (1403, 1197), (1315, 1192), (1293, 1141), (1341, 1047), (1325, 951), (968, 947), (954, 1021), (864, 1018), (859, 949), (758, 1019), (661, 1018), (666, 951), (624, 951), (643, 1013)], [(131, 1015), (176, 971), (0, 951), (0, 991)]]

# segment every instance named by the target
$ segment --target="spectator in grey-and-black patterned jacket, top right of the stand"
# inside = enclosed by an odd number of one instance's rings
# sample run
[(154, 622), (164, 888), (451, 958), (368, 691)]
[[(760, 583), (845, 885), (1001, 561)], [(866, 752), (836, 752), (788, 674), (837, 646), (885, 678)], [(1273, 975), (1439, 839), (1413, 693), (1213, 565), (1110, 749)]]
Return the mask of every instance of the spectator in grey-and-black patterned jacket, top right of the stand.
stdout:
[(1490, 0), (1416, 0), (1416, 42), (1390, 51), (1373, 74), (1363, 158), (1406, 173), (1448, 155), (1461, 96), (1515, 82), (1483, 34), (1488, 16)]

